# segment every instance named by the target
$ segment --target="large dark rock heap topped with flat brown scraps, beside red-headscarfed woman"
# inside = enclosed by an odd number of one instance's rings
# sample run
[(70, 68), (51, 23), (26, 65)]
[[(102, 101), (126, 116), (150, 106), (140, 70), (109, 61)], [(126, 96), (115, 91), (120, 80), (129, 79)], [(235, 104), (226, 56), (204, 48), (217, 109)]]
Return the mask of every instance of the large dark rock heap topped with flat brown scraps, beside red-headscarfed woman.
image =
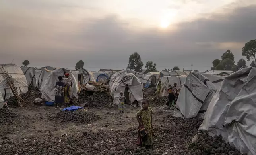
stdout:
[(95, 86), (93, 90), (81, 86), (80, 94), (78, 95), (78, 102), (83, 103), (84, 107), (91, 108), (112, 108), (112, 97), (107, 85), (101, 83), (89, 82), (89, 85)]

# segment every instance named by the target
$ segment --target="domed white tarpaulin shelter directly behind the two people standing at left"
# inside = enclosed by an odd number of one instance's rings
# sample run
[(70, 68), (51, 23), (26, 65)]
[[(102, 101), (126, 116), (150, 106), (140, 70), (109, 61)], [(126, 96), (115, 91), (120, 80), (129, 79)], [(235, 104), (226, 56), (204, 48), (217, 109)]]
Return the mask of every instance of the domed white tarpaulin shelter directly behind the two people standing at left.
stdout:
[(75, 76), (65, 68), (59, 68), (53, 71), (48, 72), (48, 77), (45, 79), (44, 85), (41, 86), (40, 91), (42, 93), (41, 98), (45, 98), (45, 100), (53, 102), (55, 100), (55, 85), (58, 80), (58, 76), (64, 76), (65, 73), (70, 74), (70, 78), (72, 79), (72, 87), (71, 87), (71, 98), (78, 99), (78, 83), (76, 81)]

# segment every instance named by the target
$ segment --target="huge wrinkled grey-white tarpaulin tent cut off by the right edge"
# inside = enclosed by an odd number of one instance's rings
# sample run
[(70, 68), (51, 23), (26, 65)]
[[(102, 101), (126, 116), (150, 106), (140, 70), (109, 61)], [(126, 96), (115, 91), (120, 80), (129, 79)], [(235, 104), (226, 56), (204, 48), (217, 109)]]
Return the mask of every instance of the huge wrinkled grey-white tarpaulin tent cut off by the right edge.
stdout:
[(225, 77), (199, 130), (221, 135), (239, 151), (256, 155), (255, 89), (256, 68), (243, 68)]

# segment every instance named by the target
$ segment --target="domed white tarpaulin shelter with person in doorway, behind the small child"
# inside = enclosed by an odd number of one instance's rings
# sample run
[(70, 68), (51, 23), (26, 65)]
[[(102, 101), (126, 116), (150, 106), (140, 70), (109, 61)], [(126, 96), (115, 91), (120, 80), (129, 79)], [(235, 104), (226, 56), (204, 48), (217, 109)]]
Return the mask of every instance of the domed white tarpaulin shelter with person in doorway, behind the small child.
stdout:
[[(140, 79), (136, 77), (132, 73), (126, 73), (123, 71), (117, 72), (118, 74), (114, 74), (111, 77), (111, 80), (114, 81), (112, 83), (109, 83), (111, 87), (111, 95), (114, 98), (113, 103), (119, 104), (119, 96), (120, 91), (124, 92), (124, 95), (126, 94), (126, 85), (128, 85), (129, 90), (128, 96), (130, 104), (132, 104), (135, 100), (140, 101), (143, 99), (143, 85), (140, 82)], [(115, 78), (114, 78), (115, 77)], [(138, 102), (140, 104), (140, 102)], [(140, 106), (140, 105), (139, 105)]]

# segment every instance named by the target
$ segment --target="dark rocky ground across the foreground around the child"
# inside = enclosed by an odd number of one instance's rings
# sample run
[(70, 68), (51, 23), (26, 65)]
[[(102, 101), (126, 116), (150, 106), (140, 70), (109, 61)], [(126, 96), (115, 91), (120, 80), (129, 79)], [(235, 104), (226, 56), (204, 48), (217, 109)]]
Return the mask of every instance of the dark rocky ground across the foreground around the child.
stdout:
[[(10, 108), (18, 115), (0, 124), (0, 155), (239, 155), (221, 137), (198, 134), (202, 120), (172, 117), (173, 111), (151, 103), (155, 114), (153, 149), (136, 146), (136, 112), (126, 105), (124, 114), (114, 109), (90, 108), (97, 119), (90, 123), (63, 121), (54, 107)], [(56, 117), (57, 116), (57, 117)], [(5, 116), (3, 116), (5, 117)], [(77, 118), (76, 118), (77, 119)]]

